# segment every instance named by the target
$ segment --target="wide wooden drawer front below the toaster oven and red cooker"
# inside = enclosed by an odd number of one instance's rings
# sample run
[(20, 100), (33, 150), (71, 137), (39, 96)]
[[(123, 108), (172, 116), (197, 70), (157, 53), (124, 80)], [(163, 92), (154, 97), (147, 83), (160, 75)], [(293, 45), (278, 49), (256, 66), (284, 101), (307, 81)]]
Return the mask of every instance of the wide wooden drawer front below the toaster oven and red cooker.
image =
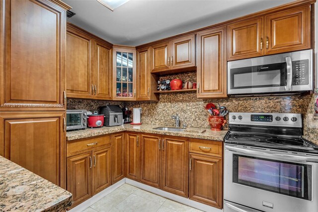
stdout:
[(68, 141), (67, 143), (67, 155), (73, 155), (75, 152), (83, 151), (83, 150), (91, 150), (94, 147), (102, 146), (102, 145), (111, 145), (111, 139), (109, 135), (96, 136), (91, 138), (84, 138), (75, 141)]

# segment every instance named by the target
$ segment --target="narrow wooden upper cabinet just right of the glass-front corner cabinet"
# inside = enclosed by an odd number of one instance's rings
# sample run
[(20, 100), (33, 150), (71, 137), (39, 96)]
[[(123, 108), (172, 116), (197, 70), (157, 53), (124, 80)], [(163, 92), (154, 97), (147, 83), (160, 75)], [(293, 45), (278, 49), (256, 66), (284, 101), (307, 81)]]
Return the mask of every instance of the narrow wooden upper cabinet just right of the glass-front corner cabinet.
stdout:
[(150, 48), (137, 51), (137, 101), (159, 101), (157, 91), (158, 77), (150, 73)]

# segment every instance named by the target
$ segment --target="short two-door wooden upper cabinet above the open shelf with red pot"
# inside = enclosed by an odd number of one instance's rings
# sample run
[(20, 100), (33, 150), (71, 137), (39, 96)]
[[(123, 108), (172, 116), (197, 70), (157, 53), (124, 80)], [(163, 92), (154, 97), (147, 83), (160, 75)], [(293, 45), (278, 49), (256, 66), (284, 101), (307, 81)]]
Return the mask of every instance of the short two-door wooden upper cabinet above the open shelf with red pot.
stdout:
[(164, 74), (171, 73), (170, 70), (180, 69), (195, 70), (195, 34), (156, 44), (151, 49), (152, 73)]

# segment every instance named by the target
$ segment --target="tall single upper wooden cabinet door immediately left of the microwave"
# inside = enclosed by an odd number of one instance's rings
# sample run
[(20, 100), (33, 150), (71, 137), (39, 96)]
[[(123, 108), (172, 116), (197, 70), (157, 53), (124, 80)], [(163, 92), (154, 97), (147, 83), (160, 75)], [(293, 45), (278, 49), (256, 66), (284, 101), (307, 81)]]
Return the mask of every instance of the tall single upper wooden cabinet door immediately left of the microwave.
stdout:
[(226, 98), (226, 28), (198, 33), (198, 98)]

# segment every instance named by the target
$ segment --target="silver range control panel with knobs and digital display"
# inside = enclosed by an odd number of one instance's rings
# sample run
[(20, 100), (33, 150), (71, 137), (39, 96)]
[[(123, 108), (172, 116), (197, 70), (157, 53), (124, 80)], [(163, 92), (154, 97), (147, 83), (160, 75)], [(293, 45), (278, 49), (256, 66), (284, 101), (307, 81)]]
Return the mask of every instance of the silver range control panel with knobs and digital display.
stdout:
[(303, 127), (300, 113), (230, 112), (229, 124)]

